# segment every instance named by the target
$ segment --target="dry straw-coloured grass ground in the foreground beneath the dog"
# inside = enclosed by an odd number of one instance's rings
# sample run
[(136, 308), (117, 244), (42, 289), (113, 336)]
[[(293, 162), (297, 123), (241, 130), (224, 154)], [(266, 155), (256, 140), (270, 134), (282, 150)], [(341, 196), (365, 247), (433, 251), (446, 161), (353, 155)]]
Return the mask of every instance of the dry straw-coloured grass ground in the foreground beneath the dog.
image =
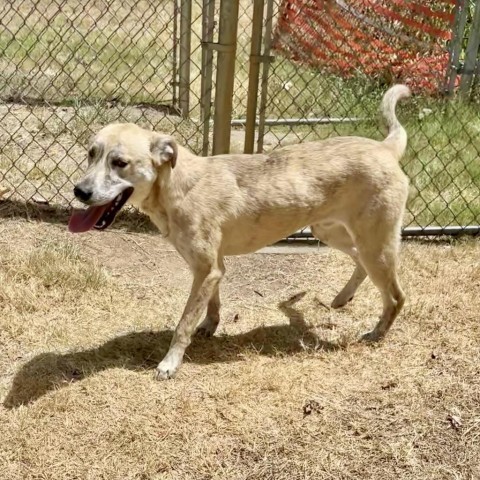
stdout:
[(219, 333), (158, 383), (189, 286), (170, 247), (0, 233), (2, 480), (479, 478), (478, 241), (404, 244), (408, 303), (377, 347), (355, 342), (371, 284), (326, 307), (342, 254), (231, 258)]

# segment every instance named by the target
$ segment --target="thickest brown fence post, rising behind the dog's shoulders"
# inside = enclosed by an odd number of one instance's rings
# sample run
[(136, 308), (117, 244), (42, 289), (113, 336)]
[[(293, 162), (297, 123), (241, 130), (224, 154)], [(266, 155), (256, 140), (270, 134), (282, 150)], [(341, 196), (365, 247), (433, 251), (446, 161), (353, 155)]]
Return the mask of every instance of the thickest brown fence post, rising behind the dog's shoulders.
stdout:
[(232, 117), (239, 0), (222, 0), (218, 32), (217, 79), (213, 125), (213, 155), (228, 153)]

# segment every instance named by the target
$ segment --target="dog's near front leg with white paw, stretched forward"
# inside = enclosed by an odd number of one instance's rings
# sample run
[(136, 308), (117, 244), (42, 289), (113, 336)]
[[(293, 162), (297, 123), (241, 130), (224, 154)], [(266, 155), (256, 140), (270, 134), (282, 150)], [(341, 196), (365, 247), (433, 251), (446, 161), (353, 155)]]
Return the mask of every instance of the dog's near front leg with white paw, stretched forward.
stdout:
[(218, 290), (222, 276), (223, 269), (219, 266), (211, 266), (207, 269), (195, 271), (192, 290), (182, 318), (175, 329), (167, 355), (157, 367), (155, 376), (158, 380), (165, 380), (175, 376), (182, 363), (185, 350), (190, 345), (200, 315), (207, 307), (209, 299)]

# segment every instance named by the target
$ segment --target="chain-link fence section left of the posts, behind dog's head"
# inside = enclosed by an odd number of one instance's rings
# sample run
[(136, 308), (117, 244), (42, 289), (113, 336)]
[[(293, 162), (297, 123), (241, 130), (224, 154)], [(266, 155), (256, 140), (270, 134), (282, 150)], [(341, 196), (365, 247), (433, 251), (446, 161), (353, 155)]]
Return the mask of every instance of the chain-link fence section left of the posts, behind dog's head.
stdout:
[(18, 0), (0, 18), (4, 197), (69, 204), (85, 145), (109, 122), (174, 131), (198, 150), (198, 126), (180, 116), (176, 2)]

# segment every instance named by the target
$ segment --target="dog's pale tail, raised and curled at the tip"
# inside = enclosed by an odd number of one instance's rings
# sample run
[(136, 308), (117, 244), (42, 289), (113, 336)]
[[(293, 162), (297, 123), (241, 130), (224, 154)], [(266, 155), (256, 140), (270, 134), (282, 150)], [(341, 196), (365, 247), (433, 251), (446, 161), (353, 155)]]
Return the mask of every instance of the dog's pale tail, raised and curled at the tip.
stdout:
[(395, 107), (401, 98), (410, 95), (410, 89), (406, 85), (394, 85), (387, 90), (382, 100), (381, 111), (388, 127), (388, 136), (383, 143), (392, 150), (397, 160), (400, 160), (407, 148), (407, 132), (395, 115)]

